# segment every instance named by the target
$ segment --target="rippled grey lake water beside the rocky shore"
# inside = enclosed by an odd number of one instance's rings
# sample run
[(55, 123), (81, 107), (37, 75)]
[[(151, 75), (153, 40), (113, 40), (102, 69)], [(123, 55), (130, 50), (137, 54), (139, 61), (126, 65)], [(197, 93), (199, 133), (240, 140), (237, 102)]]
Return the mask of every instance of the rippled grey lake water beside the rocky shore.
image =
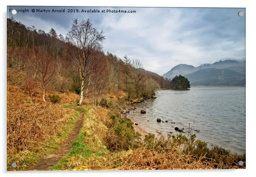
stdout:
[[(147, 132), (156, 129), (177, 133), (188, 124), (197, 138), (232, 152), (245, 153), (245, 87), (192, 87), (191, 90), (159, 90), (156, 99), (134, 104), (128, 118)], [(146, 114), (140, 114), (140, 110)], [(168, 123), (158, 123), (156, 118)], [(172, 122), (175, 124), (172, 124)]]

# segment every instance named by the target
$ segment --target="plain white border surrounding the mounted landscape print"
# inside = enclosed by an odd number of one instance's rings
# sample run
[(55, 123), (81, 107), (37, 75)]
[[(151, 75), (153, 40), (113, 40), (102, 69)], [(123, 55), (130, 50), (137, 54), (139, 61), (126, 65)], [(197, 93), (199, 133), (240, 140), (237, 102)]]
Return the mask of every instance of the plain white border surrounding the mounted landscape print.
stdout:
[[(0, 167), (1, 173), (3, 176), (38, 176), (45, 177), (46, 175), (54, 175), (61, 177), (69, 176), (122, 176), (122, 177), (131, 177), (131, 176), (189, 176), (189, 177), (216, 177), (216, 175), (228, 175), (228, 176), (252, 176), (254, 165), (255, 165), (255, 126), (256, 126), (256, 114), (254, 112), (255, 107), (255, 91), (256, 88), (256, 79), (255, 79), (255, 17), (256, 17), (256, 6), (253, 6), (253, 1), (244, 0), (179, 0), (179, 1), (169, 1), (165, 2), (164, 0), (91, 0), (91, 1), (82, 1), (82, 0), (43, 0), (43, 1), (32, 1), (32, 0), (8, 0), (1, 1), (1, 71), (0, 78), (2, 79), (2, 86), (0, 91), (1, 98), (1, 156), (0, 156)], [(237, 7), (237, 8), (246, 8), (246, 169), (245, 170), (173, 170), (173, 171), (66, 171), (66, 172), (6, 172), (6, 6), (147, 6), (147, 7)]]

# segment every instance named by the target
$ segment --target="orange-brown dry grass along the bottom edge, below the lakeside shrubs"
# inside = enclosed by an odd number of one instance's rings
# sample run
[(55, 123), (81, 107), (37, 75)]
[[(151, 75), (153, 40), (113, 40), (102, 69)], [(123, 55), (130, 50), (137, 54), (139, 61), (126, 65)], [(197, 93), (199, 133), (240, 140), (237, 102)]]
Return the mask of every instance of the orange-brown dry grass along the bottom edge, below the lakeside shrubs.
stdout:
[[(144, 144), (146, 147), (146, 144)], [(164, 149), (161, 146), (134, 149), (122, 158), (119, 169), (239, 169), (238, 165), (217, 163), (216, 160), (206, 158), (205, 155), (185, 154), (178, 146)], [(144, 147), (144, 148), (143, 148)], [(237, 162), (236, 162), (237, 163)]]

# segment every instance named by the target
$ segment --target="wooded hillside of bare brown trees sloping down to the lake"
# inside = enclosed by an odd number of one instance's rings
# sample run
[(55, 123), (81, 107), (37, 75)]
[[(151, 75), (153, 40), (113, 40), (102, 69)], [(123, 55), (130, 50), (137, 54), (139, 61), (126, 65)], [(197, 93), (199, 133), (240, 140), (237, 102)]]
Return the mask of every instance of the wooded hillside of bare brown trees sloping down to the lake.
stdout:
[(24, 73), (22, 87), (33, 96), (42, 90), (75, 92), (77, 104), (91, 97), (94, 108), (102, 95), (123, 91), (127, 99), (151, 98), (158, 88), (171, 88), (171, 80), (147, 72), (138, 59), (123, 59), (102, 51), (106, 40), (90, 19), (72, 20), (65, 39), (51, 28), (48, 33), (7, 19), (7, 67)]

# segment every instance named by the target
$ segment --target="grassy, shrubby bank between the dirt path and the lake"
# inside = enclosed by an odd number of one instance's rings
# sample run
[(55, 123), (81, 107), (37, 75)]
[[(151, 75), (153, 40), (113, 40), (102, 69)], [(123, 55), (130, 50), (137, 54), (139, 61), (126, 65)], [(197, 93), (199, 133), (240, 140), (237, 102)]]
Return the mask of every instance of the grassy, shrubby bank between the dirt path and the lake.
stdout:
[(90, 109), (71, 151), (51, 170), (240, 169), (245, 155), (208, 148), (196, 135), (140, 136), (113, 110)]

